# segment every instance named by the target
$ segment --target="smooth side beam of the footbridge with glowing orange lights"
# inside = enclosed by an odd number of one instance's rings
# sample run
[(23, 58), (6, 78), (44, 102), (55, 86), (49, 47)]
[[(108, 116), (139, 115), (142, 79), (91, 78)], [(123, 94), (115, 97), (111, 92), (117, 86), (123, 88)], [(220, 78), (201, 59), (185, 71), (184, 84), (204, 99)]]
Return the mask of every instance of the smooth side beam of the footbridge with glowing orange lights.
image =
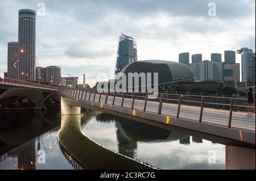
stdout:
[(255, 133), (253, 132), (177, 119), (175, 117), (133, 110), (127, 107), (112, 106), (110, 104), (92, 102), (89, 100), (75, 99), (67, 96), (63, 96), (62, 99), (69, 107), (84, 107), (90, 110), (101, 111), (115, 116), (140, 121), (156, 127), (201, 137), (205, 140), (218, 142), (224, 145), (243, 146), (255, 149)]

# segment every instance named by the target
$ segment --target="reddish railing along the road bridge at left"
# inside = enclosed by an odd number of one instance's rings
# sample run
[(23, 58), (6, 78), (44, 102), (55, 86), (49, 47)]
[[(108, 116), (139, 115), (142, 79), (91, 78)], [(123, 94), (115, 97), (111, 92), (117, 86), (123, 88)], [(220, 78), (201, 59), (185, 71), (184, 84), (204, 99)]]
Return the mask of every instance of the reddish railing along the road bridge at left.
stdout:
[(21, 81), (21, 80), (18, 80), (18, 79), (11, 79), (11, 78), (1, 78), (0, 77), (0, 82), (12, 83), (12, 84), (16, 84), (16, 85), (40, 87), (40, 88), (44, 88), (44, 89), (53, 89), (53, 90), (58, 89), (58, 87), (55, 87), (55, 86), (43, 85), (43, 84), (40, 84), (40, 83)]

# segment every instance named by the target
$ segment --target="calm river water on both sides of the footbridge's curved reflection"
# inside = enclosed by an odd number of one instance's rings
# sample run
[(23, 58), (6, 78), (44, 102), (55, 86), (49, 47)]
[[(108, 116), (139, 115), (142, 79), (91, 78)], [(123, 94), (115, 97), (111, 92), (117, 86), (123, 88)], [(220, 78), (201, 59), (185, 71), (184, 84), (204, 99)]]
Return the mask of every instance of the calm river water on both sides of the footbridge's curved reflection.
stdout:
[[(0, 113), (0, 169), (83, 169), (57, 141), (60, 110)], [(159, 169), (225, 169), (225, 145), (90, 111), (82, 132), (106, 148)], [(46, 153), (39, 164), (38, 150)], [(70, 153), (72, 154), (72, 153)], [(209, 163), (211, 155), (216, 162)]]

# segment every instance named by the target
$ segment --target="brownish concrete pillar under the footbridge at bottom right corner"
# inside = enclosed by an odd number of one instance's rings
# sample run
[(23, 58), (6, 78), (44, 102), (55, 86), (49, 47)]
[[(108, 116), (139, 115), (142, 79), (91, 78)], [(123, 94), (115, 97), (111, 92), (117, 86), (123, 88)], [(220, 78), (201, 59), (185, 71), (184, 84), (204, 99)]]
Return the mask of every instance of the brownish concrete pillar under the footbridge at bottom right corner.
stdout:
[(255, 149), (226, 146), (227, 170), (255, 170)]

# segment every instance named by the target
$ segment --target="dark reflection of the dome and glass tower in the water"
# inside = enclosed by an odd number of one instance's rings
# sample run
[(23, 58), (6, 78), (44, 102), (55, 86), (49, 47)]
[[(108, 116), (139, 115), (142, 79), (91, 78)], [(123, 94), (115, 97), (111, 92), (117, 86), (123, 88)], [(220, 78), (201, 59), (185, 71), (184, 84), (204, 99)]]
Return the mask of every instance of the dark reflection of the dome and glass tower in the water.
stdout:
[[(137, 150), (137, 142), (179, 141), (180, 144), (190, 144), (191, 136), (187, 134), (172, 132), (138, 121), (131, 121), (106, 113), (98, 113), (96, 120), (102, 123), (115, 122), (118, 152), (130, 158), (134, 158), (135, 151)], [(192, 137), (192, 141), (203, 143), (201, 138), (194, 136)]]

